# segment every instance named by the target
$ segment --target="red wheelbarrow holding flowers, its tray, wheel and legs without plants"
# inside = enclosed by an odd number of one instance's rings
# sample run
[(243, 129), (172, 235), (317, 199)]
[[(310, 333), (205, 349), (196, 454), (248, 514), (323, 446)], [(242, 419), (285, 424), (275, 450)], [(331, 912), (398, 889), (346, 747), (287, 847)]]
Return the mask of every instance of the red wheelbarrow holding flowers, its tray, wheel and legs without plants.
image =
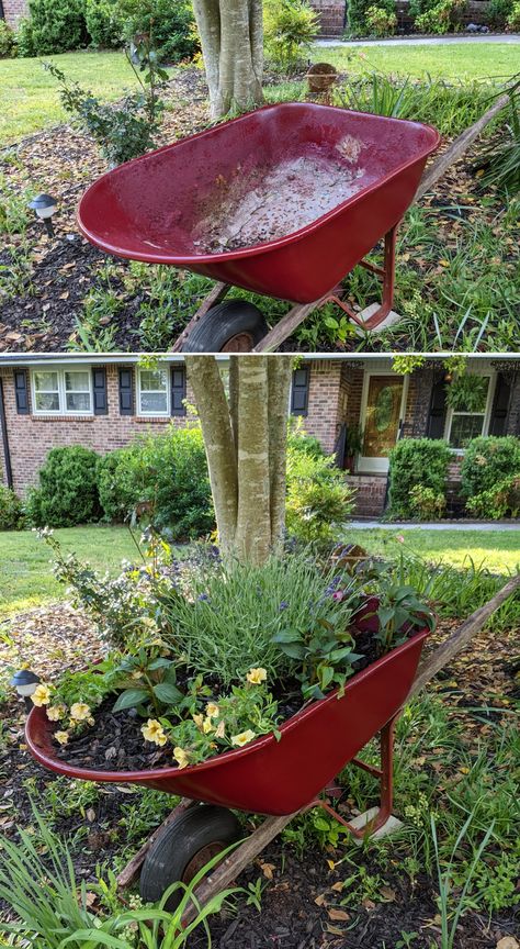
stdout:
[[(142, 784), (183, 795), (151, 846), (143, 848), (146, 859), (140, 892), (146, 900), (160, 898), (176, 880), (189, 882), (211, 857), (242, 836), (228, 808), (271, 815), (202, 887), (218, 890), (228, 885), (292, 817), (310, 807), (324, 807), (358, 837), (375, 833), (385, 824), (392, 810), (394, 723), (410, 691), (428, 633), (425, 628), (412, 634), (405, 644), (358, 672), (348, 681), (341, 697), (337, 691), (331, 692), (287, 719), (280, 727), (280, 740), (265, 735), (201, 764), (148, 771), (94, 771), (66, 764), (53, 748), (55, 726), (45, 710), (36, 707), (27, 718), (27, 746), (37, 761), (69, 778)], [(377, 733), (381, 768), (373, 768), (355, 756)], [(326, 800), (327, 793), (337, 794), (334, 779), (349, 762), (369, 771), (381, 784), (378, 813), (362, 830), (349, 824)], [(201, 898), (205, 898), (204, 892)]]

